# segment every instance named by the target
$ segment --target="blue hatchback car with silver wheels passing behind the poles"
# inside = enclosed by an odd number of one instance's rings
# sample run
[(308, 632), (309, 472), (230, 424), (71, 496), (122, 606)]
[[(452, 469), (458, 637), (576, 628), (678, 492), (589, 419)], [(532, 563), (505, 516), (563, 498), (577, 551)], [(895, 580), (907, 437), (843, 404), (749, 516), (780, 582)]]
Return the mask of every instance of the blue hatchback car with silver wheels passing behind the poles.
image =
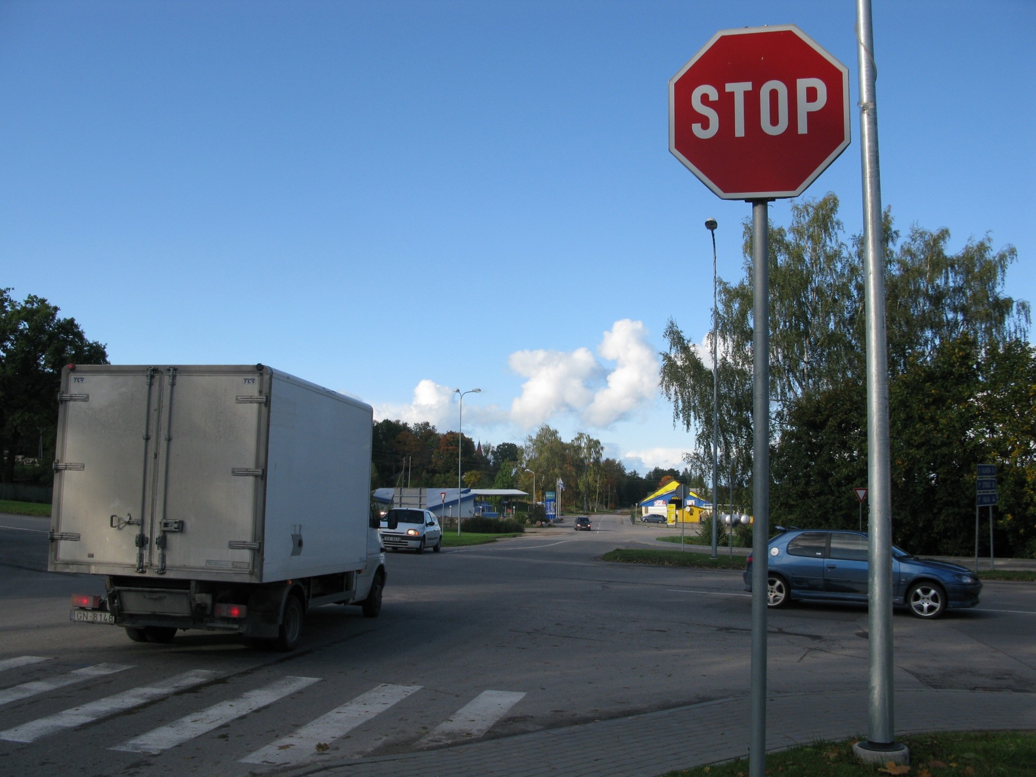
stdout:
[[(770, 541), (767, 598), (770, 607), (797, 599), (867, 601), (867, 535), (832, 529), (785, 529)], [(743, 574), (752, 589), (752, 556)], [(918, 558), (892, 548), (892, 603), (912, 615), (934, 618), (948, 608), (974, 607), (982, 591), (967, 567)]]

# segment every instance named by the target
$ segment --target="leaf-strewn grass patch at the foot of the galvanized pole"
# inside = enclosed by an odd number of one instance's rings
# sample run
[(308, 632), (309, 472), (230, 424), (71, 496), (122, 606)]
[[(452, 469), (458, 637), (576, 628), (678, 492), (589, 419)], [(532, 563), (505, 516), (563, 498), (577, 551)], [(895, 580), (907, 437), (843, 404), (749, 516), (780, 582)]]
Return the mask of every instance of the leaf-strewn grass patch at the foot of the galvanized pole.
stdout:
[[(910, 777), (1032, 777), (1036, 774), (1036, 733), (1032, 731), (967, 731), (922, 733), (899, 738), (910, 748), (910, 767), (861, 764), (853, 743), (817, 742), (767, 755), (770, 777), (858, 777), (903, 774)], [(695, 767), (666, 777), (745, 777), (748, 761)]]

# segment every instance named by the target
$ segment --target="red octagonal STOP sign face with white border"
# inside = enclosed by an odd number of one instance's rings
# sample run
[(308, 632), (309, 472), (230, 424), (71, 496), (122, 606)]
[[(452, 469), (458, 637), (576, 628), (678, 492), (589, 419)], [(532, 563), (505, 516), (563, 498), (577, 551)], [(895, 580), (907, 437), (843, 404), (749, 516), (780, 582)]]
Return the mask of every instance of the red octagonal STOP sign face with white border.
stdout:
[(669, 150), (724, 200), (802, 194), (848, 123), (848, 69), (794, 25), (720, 30), (669, 80)]

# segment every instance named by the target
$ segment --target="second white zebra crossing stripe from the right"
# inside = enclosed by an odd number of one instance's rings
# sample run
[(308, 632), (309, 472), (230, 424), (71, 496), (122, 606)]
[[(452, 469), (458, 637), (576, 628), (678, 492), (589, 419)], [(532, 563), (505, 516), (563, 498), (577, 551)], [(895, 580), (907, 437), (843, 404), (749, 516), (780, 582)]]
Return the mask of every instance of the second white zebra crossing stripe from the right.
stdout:
[(420, 685), (383, 683), (326, 715), (321, 715), (293, 733), (246, 755), (240, 762), (287, 766), (309, 760), (318, 754), (318, 743), (326, 744), (341, 739), (356, 726), (420, 690)]

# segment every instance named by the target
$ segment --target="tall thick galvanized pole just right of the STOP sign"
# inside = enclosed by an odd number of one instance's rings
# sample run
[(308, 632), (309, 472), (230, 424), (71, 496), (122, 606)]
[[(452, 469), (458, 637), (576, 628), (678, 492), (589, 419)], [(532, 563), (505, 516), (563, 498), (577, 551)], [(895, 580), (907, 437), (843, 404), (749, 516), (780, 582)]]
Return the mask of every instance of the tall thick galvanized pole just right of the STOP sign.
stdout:
[(877, 95), (870, 0), (856, 3), (860, 70), (860, 154), (863, 172), (864, 293), (867, 330), (867, 486), (870, 498), (869, 688), (870, 751), (902, 750), (895, 743), (892, 697), (892, 488), (889, 466), (889, 372), (885, 332), (885, 241), (877, 160)]

